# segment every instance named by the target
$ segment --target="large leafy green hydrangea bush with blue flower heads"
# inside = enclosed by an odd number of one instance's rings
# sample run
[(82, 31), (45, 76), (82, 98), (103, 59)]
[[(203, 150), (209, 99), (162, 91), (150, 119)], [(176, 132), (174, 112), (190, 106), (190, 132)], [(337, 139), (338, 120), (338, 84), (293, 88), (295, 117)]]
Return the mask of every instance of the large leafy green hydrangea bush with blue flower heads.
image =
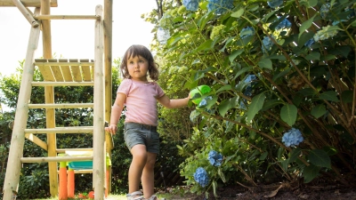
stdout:
[[(162, 60), (161, 75), (169, 77), (167, 91), (199, 84), (213, 89), (204, 108), (190, 104), (193, 132), (178, 147), (189, 156), (181, 165), (187, 184), (204, 192), (231, 177), (256, 185), (271, 174), (307, 183), (323, 172), (348, 184), (341, 174), (356, 172), (356, 4), (182, 3), (165, 1), (171, 35), (152, 48)], [(159, 19), (151, 21), (160, 26)], [(218, 167), (206, 159), (211, 149), (224, 156)], [(209, 176), (204, 188), (193, 178), (198, 167)]]

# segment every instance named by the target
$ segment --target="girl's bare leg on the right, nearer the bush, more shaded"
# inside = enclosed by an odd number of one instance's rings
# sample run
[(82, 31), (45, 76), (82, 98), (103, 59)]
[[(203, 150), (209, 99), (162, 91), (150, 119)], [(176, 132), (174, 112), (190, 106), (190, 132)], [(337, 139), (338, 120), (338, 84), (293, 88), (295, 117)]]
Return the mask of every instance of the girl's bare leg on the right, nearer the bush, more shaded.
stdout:
[(157, 154), (147, 152), (147, 162), (143, 168), (142, 172), (142, 188), (143, 195), (145, 198), (150, 198), (154, 192), (154, 184), (155, 184), (155, 163), (156, 163)]

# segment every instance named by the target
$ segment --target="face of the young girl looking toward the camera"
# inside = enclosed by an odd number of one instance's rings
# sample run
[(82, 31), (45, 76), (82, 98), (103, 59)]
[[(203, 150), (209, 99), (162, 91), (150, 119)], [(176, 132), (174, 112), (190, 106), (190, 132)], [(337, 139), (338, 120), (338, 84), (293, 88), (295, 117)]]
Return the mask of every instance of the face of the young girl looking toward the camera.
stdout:
[(144, 59), (142, 56), (128, 58), (127, 70), (133, 80), (147, 82), (149, 61)]

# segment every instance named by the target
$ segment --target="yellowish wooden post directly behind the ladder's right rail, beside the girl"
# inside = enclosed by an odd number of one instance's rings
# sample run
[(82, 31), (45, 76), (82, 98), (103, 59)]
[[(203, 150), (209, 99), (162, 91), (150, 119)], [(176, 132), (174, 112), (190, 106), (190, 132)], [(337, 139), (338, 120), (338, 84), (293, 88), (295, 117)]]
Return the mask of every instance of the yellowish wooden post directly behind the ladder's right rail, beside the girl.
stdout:
[[(110, 122), (111, 115), (111, 99), (112, 99), (112, 0), (104, 1), (104, 56), (105, 56), (105, 120)], [(106, 151), (111, 158), (111, 149), (113, 144), (111, 142), (112, 136), (109, 132), (105, 133), (105, 140), (107, 141)], [(111, 180), (111, 166), (107, 168), (109, 180)], [(107, 181), (107, 191), (111, 192), (111, 181)]]

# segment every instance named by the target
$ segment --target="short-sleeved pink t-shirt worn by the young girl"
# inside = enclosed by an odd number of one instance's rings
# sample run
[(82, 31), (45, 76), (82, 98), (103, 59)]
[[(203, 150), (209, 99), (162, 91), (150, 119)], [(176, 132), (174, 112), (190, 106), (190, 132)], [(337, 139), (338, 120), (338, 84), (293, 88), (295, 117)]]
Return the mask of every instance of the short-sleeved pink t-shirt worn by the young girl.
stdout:
[(124, 79), (117, 93), (126, 95), (125, 122), (158, 125), (157, 98), (165, 95), (155, 82), (143, 84), (132, 79)]

